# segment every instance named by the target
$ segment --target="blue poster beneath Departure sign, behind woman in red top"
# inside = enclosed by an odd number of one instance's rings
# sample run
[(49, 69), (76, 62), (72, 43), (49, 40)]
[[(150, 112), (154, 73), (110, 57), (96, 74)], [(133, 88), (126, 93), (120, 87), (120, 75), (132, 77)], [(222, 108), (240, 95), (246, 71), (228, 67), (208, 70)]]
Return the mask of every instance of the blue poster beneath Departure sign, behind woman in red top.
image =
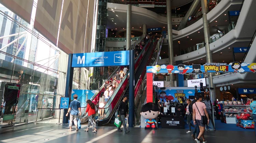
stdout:
[(73, 95), (77, 94), (77, 100), (80, 102), (81, 107), (86, 106), (86, 99), (91, 99), (94, 96), (96, 90), (72, 90), (71, 101), (74, 100)]

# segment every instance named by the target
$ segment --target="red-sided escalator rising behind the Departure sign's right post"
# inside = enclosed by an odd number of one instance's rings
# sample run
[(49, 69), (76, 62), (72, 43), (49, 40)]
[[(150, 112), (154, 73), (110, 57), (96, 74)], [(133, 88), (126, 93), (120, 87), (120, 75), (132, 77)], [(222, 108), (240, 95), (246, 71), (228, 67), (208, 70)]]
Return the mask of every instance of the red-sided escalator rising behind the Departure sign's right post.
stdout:
[[(141, 82), (143, 81), (143, 78), (146, 75), (146, 66), (148, 66), (148, 64), (150, 64), (150, 63), (153, 63), (152, 62), (152, 55), (153, 55), (153, 53), (155, 53), (156, 45), (157, 45), (157, 42), (155, 42), (155, 44), (152, 43), (148, 48), (145, 48), (145, 50), (144, 50), (144, 53), (145, 53), (144, 57), (138, 58), (135, 61), (136, 64), (134, 66), (134, 69), (135, 69), (134, 81), (137, 84), (136, 84), (136, 86), (134, 88), (135, 89), (134, 90), (134, 97), (136, 97), (136, 95), (138, 94)], [(124, 96), (128, 96), (129, 97), (129, 83), (128, 83), (128, 80), (127, 80), (127, 76), (124, 78), (124, 80), (123, 80), (124, 83), (122, 84), (122, 86), (124, 84), (126, 84), (126, 87), (122, 88), (121, 91), (119, 91), (117, 93), (119, 95), (119, 99), (117, 100), (117, 102), (115, 102), (115, 105), (112, 105), (112, 107), (114, 107), (114, 108), (112, 108), (113, 109), (112, 113), (111, 114), (107, 114), (108, 117), (105, 117), (105, 118), (102, 118), (102, 119), (98, 120), (97, 121), (98, 126), (102, 126), (102, 125), (104, 125), (104, 126), (114, 126), (114, 119), (117, 116), (116, 109), (117, 109), (117, 107), (119, 105), (119, 102), (122, 100), (122, 98), (120, 98), (120, 97), (124, 97)], [(105, 105), (104, 109), (105, 110), (109, 110), (108, 108), (109, 108), (109, 106)], [(115, 114), (115, 115), (113, 116), (113, 114)]]

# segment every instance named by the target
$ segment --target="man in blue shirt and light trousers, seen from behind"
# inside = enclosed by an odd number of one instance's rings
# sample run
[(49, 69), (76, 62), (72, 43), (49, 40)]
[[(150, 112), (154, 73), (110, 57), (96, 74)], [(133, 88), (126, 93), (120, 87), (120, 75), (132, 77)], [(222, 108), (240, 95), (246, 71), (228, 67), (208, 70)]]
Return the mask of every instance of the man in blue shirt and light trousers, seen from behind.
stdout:
[(69, 115), (70, 112), (70, 117), (69, 117), (69, 130), (68, 131), (72, 131), (72, 122), (74, 121), (75, 124), (75, 129), (76, 131), (78, 131), (78, 127), (77, 127), (77, 115), (78, 115), (78, 111), (79, 111), (79, 116), (81, 115), (81, 106), (80, 106), (80, 102), (77, 100), (77, 95), (73, 95), (74, 100), (70, 102), (69, 105), (69, 110), (68, 113), (66, 114), (66, 116)]

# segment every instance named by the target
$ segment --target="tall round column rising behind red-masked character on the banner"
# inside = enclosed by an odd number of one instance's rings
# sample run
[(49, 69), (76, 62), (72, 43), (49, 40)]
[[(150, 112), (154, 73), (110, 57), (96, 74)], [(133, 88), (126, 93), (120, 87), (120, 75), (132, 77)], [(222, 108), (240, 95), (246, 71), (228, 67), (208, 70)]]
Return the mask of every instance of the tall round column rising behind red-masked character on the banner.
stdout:
[[(173, 41), (172, 41), (172, 13), (171, 13), (171, 1), (166, 1), (166, 9), (167, 9), (167, 26), (168, 26), (168, 55), (169, 55), (169, 64), (173, 65)], [(173, 83), (174, 76), (170, 74), (170, 87), (174, 86)]]

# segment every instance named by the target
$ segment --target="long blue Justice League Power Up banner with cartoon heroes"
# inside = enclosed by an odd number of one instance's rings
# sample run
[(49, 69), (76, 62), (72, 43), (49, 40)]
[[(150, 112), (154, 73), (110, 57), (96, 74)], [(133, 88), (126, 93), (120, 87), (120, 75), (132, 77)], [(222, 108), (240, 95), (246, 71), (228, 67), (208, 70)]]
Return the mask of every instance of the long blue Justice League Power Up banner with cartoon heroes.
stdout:
[(256, 63), (205, 63), (204, 65), (193, 64), (177, 66), (173, 65), (155, 65), (147, 66), (147, 73), (168, 73), (168, 74), (202, 74), (202, 73), (244, 73), (256, 72)]

